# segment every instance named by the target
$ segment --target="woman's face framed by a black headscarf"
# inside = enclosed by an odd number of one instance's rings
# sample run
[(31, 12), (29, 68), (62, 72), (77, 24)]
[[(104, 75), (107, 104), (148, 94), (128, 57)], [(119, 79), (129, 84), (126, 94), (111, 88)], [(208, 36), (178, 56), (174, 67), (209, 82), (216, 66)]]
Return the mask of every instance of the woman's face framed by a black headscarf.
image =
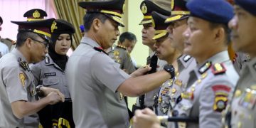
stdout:
[(59, 55), (65, 55), (71, 46), (71, 37), (68, 33), (63, 33), (58, 36), (55, 43), (55, 52)]

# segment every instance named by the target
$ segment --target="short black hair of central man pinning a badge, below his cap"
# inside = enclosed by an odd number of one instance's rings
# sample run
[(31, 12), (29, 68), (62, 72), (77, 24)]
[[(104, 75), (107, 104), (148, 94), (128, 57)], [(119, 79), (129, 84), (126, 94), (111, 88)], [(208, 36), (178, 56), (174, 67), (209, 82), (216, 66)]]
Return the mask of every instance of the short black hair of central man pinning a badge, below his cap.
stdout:
[(105, 16), (104, 14), (100, 14), (100, 13), (87, 13), (85, 14), (83, 21), (84, 21), (84, 26), (85, 26), (85, 32), (90, 30), (90, 27), (92, 26), (92, 21), (98, 18), (100, 19), (100, 21), (102, 21), (102, 23), (105, 23), (105, 21), (107, 20), (107, 16)]

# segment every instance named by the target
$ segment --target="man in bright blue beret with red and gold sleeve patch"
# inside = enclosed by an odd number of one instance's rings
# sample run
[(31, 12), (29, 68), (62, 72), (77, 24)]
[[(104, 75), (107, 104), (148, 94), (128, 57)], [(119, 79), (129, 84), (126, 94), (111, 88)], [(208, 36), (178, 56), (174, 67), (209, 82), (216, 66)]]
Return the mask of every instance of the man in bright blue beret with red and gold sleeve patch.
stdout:
[[(180, 118), (178, 127), (221, 127), (221, 112), (238, 80), (227, 51), (233, 8), (223, 0), (193, 0), (186, 6), (191, 17), (183, 33), (184, 53), (193, 56), (198, 65), (189, 73), (186, 91), (172, 114)], [(138, 114), (136, 117), (142, 117)]]

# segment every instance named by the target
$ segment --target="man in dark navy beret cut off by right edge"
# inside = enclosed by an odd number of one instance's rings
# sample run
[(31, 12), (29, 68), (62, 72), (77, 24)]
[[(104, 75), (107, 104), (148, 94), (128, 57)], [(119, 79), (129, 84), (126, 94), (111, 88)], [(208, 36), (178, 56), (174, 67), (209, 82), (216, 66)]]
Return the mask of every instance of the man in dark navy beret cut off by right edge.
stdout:
[(256, 1), (235, 0), (235, 16), (229, 22), (233, 48), (250, 55), (240, 72), (231, 106), (231, 127), (256, 127), (255, 26)]

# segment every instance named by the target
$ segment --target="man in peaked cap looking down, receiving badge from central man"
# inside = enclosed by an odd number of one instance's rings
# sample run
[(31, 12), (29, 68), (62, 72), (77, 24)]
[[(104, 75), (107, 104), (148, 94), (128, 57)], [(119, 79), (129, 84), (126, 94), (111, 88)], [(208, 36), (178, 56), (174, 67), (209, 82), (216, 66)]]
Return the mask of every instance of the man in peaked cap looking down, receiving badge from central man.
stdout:
[[(181, 53), (171, 46), (171, 39), (168, 38), (169, 34), (166, 31), (168, 24), (164, 23), (167, 16), (153, 12), (152, 18), (154, 23), (153, 26), (156, 30), (153, 38), (156, 40), (154, 45), (154, 48), (156, 48), (156, 56), (161, 60), (165, 60), (169, 65), (173, 65), (175, 69), (178, 69), (176, 59)], [(155, 97), (154, 111), (157, 115), (167, 115), (167, 112), (172, 110), (171, 100), (174, 100), (174, 95), (172, 94), (175, 94), (176, 92), (175, 88), (171, 90), (173, 82), (174, 78), (166, 80), (166, 82), (161, 85), (160, 90)], [(163, 125), (166, 126), (166, 124)]]

